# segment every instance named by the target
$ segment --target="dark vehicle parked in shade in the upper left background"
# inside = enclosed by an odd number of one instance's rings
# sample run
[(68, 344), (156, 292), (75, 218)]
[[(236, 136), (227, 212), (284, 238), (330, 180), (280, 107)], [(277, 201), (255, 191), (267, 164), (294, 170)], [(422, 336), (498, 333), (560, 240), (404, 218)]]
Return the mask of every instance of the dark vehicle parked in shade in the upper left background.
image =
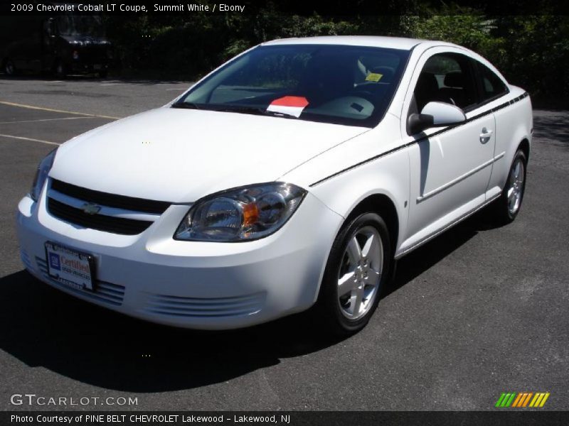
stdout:
[(112, 60), (100, 16), (14, 16), (0, 18), (0, 60), (7, 75), (18, 71), (106, 77)]

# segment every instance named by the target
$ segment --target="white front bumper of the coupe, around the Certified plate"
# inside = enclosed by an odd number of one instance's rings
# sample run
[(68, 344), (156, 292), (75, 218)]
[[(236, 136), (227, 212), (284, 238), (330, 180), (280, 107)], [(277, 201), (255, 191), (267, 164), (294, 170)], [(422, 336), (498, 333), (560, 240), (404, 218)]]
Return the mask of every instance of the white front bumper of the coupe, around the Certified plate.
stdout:
[[(247, 327), (307, 310), (316, 301), (343, 218), (308, 194), (279, 231), (257, 241), (175, 241), (188, 211), (172, 205), (142, 234), (80, 228), (52, 217), (45, 188), (39, 202), (18, 204), (26, 269), (55, 288), (151, 322), (196, 329)], [(91, 253), (95, 290), (76, 290), (48, 276), (46, 241)]]

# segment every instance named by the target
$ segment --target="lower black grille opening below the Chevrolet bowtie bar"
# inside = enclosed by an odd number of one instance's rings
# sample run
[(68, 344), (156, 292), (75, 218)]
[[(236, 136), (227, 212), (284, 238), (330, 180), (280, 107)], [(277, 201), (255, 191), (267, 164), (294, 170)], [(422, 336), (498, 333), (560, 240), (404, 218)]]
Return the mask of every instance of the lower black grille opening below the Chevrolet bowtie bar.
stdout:
[(137, 235), (153, 223), (146, 220), (105, 216), (104, 214), (87, 214), (82, 209), (76, 209), (50, 197), (48, 197), (48, 212), (65, 222), (99, 231), (112, 232), (113, 234)]

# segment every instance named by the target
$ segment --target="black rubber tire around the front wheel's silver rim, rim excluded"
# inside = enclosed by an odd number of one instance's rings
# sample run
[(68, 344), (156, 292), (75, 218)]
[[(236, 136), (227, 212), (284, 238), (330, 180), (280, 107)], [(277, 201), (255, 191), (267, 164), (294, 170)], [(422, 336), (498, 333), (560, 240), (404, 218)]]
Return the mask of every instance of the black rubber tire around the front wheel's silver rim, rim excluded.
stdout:
[[(383, 244), (383, 271), (381, 272), (381, 281), (379, 283), (378, 293), (376, 299), (373, 301), (371, 309), (366, 312), (366, 315), (358, 320), (349, 320), (346, 318), (338, 304), (338, 268), (341, 263), (344, 251), (356, 232), (364, 226), (373, 226), (379, 232)], [(392, 263), (390, 235), (388, 227), (376, 213), (363, 213), (355, 217), (339, 231), (338, 236), (334, 240), (326, 269), (324, 271), (324, 278), (321, 283), (321, 291), (319, 295), (320, 315), (323, 315), (325, 322), (330, 327), (330, 331), (335, 334), (352, 334), (358, 332), (366, 326), (369, 322), (373, 312), (376, 310), (378, 302), (381, 298), (381, 293), (385, 289), (388, 282), (388, 275)]]

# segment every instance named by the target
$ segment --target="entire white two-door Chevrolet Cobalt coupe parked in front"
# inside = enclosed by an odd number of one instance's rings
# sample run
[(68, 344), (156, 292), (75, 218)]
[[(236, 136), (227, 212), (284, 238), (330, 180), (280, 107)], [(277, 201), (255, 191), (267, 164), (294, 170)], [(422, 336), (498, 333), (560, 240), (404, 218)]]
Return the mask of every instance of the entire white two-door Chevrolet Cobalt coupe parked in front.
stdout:
[(171, 104), (63, 143), (18, 205), (26, 269), (151, 322), (313, 305), (363, 328), (395, 260), (487, 204), (519, 212), (528, 94), (450, 43), (262, 43)]

